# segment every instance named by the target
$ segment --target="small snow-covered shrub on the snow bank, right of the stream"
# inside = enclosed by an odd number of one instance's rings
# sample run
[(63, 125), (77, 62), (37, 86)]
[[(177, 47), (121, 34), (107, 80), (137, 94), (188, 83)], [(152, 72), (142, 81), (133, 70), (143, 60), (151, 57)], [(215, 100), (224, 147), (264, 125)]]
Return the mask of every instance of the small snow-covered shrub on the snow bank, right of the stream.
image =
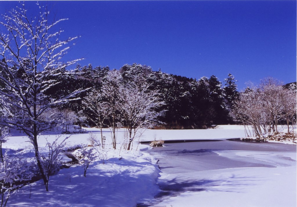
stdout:
[(96, 152), (94, 147), (84, 147), (75, 153), (75, 157), (79, 160), (80, 165), (83, 166), (83, 176), (86, 177), (89, 165), (96, 159)]

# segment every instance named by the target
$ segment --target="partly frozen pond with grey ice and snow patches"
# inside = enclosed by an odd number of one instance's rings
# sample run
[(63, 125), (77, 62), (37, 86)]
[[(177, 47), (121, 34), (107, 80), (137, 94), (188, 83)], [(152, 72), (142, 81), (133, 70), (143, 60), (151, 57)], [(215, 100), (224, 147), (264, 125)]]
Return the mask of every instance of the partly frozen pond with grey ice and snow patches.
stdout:
[[(178, 200), (181, 201), (181, 197), (187, 197), (183, 195), (185, 192), (192, 192), (192, 194), (195, 192), (197, 198), (199, 192), (210, 192), (211, 194), (216, 192), (214, 196), (218, 196), (220, 192), (231, 191), (229, 196), (232, 199), (233, 191), (245, 192), (245, 189), (248, 191), (252, 185), (261, 183), (259, 180), (263, 180), (261, 178), (266, 176), (267, 170), (271, 169), (273, 174), (280, 174), (285, 167), (288, 168), (284, 171), (290, 171), (289, 176), (292, 176), (287, 177), (290, 181), (288, 187), (293, 188), (293, 192), (295, 190), (296, 193), (296, 183), (292, 184), (294, 179), (296, 180), (296, 145), (220, 140), (165, 143), (165, 147), (155, 147), (147, 152), (159, 159), (158, 165), (162, 174), (158, 185), (161, 192), (156, 195), (155, 201), (143, 206), (166, 206), (158, 204), (164, 200), (168, 206), (171, 205), (170, 202), (175, 204), (173, 206), (178, 206), (172, 198), (178, 197)], [(268, 178), (270, 179), (271, 175), (268, 175)], [(277, 182), (274, 183), (277, 185)], [(269, 183), (267, 187), (271, 187), (270, 185)], [(283, 187), (286, 185), (283, 184)], [(253, 192), (256, 193), (255, 190), (252, 190), (245, 194), (253, 194)], [(251, 196), (256, 199), (254, 195)], [(234, 201), (234, 199), (232, 200)], [(189, 204), (191, 203), (187, 205)], [(203, 202), (200, 204), (207, 206)], [(228, 202), (225, 204), (229, 206)], [(215, 206), (216, 204), (211, 205)], [(247, 203), (247, 206), (249, 205), (253, 205), (253, 203)], [(224, 205), (221, 203), (220, 206)]]

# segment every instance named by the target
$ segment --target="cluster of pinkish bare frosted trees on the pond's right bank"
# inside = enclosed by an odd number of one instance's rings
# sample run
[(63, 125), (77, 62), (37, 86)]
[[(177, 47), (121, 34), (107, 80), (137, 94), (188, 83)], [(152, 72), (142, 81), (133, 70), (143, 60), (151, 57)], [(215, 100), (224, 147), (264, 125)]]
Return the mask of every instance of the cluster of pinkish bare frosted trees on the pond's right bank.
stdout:
[(278, 133), (279, 120), (294, 122), (296, 93), (273, 78), (262, 80), (259, 88), (247, 88), (234, 102), (233, 114), (238, 121), (252, 125), (258, 138), (264, 133)]

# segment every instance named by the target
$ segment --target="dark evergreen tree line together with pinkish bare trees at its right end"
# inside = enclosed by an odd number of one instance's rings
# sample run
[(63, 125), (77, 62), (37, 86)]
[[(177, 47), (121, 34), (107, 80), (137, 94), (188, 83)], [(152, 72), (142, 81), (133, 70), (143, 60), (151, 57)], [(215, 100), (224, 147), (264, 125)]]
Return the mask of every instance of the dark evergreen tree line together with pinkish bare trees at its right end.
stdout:
[[(111, 74), (116, 80), (113, 83), (110, 79)], [(51, 90), (48, 95), (61, 96), (61, 93), (64, 93), (60, 90), (61, 88), (72, 91), (79, 88), (91, 88), (89, 91), (80, 93), (80, 100), (68, 102), (62, 107), (70, 108), (76, 114), (84, 114), (86, 124), (100, 128), (111, 126), (110, 119), (106, 115), (108, 107), (103, 107), (104, 97), (109, 96), (106, 92), (107, 85), (112, 85), (113, 92), (117, 91), (116, 93), (118, 93), (117, 99), (113, 100), (115, 102), (124, 97), (126, 99), (133, 97), (135, 93), (132, 93), (131, 85), (140, 91), (147, 91), (143, 94), (151, 92), (154, 97), (157, 96), (160, 104), (155, 108), (155, 111), (162, 112), (162, 115), (159, 114), (158, 121), (155, 120), (154, 123), (157, 125), (149, 125), (150, 128), (201, 129), (211, 125), (235, 123), (253, 125), (250, 122), (253, 114), (247, 114), (247, 112), (252, 110), (264, 114), (260, 112), (264, 109), (266, 117), (270, 113), (269, 122), (273, 132), (277, 130), (275, 128), (277, 124), (289, 125), (295, 122), (296, 83), (283, 85), (277, 79), (266, 78), (261, 81), (259, 87), (249, 86), (243, 92), (238, 92), (236, 82), (237, 80), (232, 74), (228, 74), (223, 83), (214, 75), (210, 78), (202, 77), (196, 80), (163, 73), (160, 69), (153, 71), (151, 67), (137, 63), (126, 64), (119, 70), (110, 70), (108, 67), (102, 66), (93, 67), (91, 64), (88, 66), (78, 64), (71, 73), (66, 73), (65, 69), (65, 75), (60, 77), (56, 90)], [(253, 93), (257, 93), (256, 97), (262, 100), (261, 107), (256, 110), (252, 106), (255, 103), (260, 103), (259, 101), (252, 98), (251, 103), (245, 103), (248, 95)], [(97, 97), (97, 111), (90, 107), (93, 106), (95, 97)], [(133, 102), (132, 100), (135, 99), (132, 98), (128, 102)], [(100, 106), (103, 108), (99, 110)], [(111, 105), (109, 105), (110, 107)], [(117, 103), (115, 103), (115, 109), (119, 109), (116, 112), (119, 123), (119, 120), (124, 119), (124, 115), (119, 112), (123, 109)], [(239, 112), (240, 110), (241, 112)], [(257, 117), (257, 120), (260, 118)], [(126, 127), (128, 125), (129, 123), (125, 121), (117, 126)], [(259, 126), (259, 124), (257, 125)], [(266, 129), (267, 127), (264, 127), (265, 132)]]

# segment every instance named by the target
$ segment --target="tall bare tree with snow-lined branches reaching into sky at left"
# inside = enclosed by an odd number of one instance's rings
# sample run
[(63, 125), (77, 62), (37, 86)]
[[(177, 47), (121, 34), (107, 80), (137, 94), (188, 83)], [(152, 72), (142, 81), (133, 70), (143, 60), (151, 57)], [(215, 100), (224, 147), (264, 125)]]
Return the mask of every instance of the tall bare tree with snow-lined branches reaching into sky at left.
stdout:
[[(45, 7), (39, 7), (38, 16), (28, 16), (24, 4), (2, 15), (0, 21), (0, 82), (3, 98), (1, 105), (7, 107), (11, 119), (7, 125), (22, 129), (35, 149), (35, 157), (44, 183), (48, 181), (41, 164), (37, 136), (51, 128), (56, 120), (40, 120), (50, 108), (75, 99), (80, 90), (58, 98), (45, 95), (58, 82), (65, 67), (77, 60), (64, 62), (72, 42), (77, 37), (60, 40), (62, 30), (56, 25), (66, 19), (53, 20)], [(38, 10), (38, 9), (37, 9)], [(55, 29), (56, 28), (56, 29)]]

